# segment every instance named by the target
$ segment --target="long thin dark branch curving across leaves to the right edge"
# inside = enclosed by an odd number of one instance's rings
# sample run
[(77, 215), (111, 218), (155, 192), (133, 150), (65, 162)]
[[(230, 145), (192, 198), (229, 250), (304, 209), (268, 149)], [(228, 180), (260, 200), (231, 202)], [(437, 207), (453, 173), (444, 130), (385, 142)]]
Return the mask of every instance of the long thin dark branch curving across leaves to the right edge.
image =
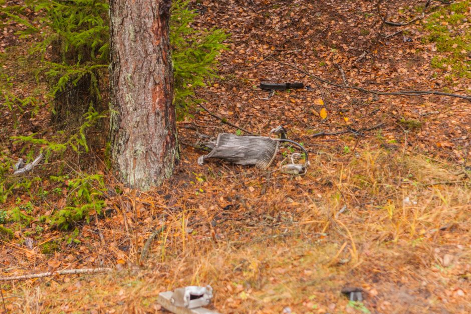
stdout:
[(434, 91), (434, 90), (404, 90), (404, 91), (397, 91), (397, 92), (379, 92), (379, 91), (375, 91), (375, 90), (365, 89), (365, 88), (362, 88), (362, 87), (345, 86), (345, 85), (330, 82), (330, 81), (328, 81), (326, 79), (323, 79), (322, 77), (319, 77), (317, 75), (310, 74), (307, 71), (304, 71), (304, 70), (302, 70), (302, 69), (300, 69), (300, 68), (298, 68), (298, 67), (296, 67), (292, 64), (280, 61), (275, 57), (270, 57), (270, 58), (277, 61), (280, 64), (284, 64), (286, 66), (289, 66), (289, 67), (291, 67), (291, 68), (293, 68), (293, 69), (295, 69), (295, 70), (297, 70), (301, 73), (304, 73), (307, 76), (309, 76), (311, 78), (314, 78), (318, 81), (321, 81), (323, 83), (326, 83), (326, 84), (329, 84), (329, 85), (332, 85), (332, 86), (335, 86), (335, 87), (340, 87), (340, 88), (355, 89), (355, 90), (358, 90), (358, 91), (363, 92), (363, 93), (375, 94), (375, 95), (404, 95), (404, 96), (441, 95), (441, 96), (448, 96), (448, 97), (457, 97), (457, 98), (461, 98), (461, 99), (464, 99), (464, 100), (471, 101), (471, 96), (444, 93), (444, 92), (439, 92), (439, 91)]

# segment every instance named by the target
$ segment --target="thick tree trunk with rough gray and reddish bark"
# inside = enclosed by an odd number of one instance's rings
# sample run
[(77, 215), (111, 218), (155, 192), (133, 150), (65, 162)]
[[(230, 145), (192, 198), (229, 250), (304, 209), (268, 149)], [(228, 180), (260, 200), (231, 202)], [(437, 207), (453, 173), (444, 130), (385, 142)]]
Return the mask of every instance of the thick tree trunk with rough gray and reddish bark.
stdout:
[(178, 159), (170, 0), (111, 0), (111, 149), (122, 182), (147, 190)]

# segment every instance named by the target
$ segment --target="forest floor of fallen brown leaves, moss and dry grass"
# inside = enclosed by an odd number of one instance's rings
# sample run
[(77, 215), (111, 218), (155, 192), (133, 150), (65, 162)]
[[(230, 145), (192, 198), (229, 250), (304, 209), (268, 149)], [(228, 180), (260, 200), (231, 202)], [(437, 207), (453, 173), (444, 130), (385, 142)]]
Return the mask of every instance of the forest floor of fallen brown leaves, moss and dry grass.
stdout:
[[(421, 15), (420, 4), (388, 1), (381, 12), (405, 22)], [(197, 96), (251, 132), (284, 126), (309, 152), (307, 174), (279, 171), (290, 147), (267, 171), (214, 160), (198, 166), (204, 152), (192, 147), (195, 129), (244, 132), (192, 109), (194, 117), (178, 125), (181, 162), (162, 187), (121, 188), (106, 198), (104, 215), (71, 231), (39, 220), (4, 225), (14, 234), (0, 238), (2, 277), (113, 271), (4, 282), (0, 311), (160, 312), (159, 292), (210, 284), (211, 307), (221, 313), (471, 312), (471, 103), (367, 94), (306, 75), (383, 92), (471, 95), (470, 2), (434, 1), (423, 19), (405, 26), (383, 24), (375, 2), (366, 0), (191, 5), (200, 13), (196, 28), (230, 34), (220, 77)], [(8, 52), (22, 49), (13, 33), (0, 34), (2, 73), (20, 66), (8, 63)], [(25, 95), (41, 92), (18, 77), (15, 88)], [(268, 97), (258, 88), (265, 80), (311, 88)], [(48, 108), (35, 119), (26, 110), (20, 128), (7, 108), (0, 110), (2, 149), (19, 157), (21, 147), (9, 136), (47, 127)], [(104, 172), (99, 155), (95, 164)], [(64, 206), (57, 191), (46, 200), (20, 191), (3, 207), (44, 215)], [(345, 287), (361, 289), (364, 300), (349, 301)]]

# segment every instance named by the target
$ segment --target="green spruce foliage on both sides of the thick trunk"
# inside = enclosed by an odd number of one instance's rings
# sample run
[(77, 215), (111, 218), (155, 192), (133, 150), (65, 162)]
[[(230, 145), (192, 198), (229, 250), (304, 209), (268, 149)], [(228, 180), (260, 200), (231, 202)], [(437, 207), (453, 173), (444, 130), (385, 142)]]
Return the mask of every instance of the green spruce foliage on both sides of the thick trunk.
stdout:
[[(66, 151), (81, 153), (94, 148), (90, 146), (91, 138), (87, 137), (87, 130), (95, 127), (100, 132), (107, 132), (103, 129), (106, 123), (97, 124), (97, 122), (106, 118), (109, 103), (108, 1), (26, 0), (21, 5), (5, 7), (5, 0), (0, 0), (0, 5), (2, 5), (0, 8), (2, 24), (10, 20), (24, 26), (24, 30), (18, 35), (30, 39), (30, 58), (39, 58), (35, 60), (41, 64), (32, 76), (36, 76), (38, 82), (48, 83), (48, 96), (52, 99), (49, 103), (53, 113), (52, 122), (64, 126), (62, 129), (56, 128), (55, 133), (47, 137), (42, 137), (44, 132), (38, 132), (12, 137), (11, 140), (24, 145), (21, 153), (26, 153), (26, 162), (34, 159), (40, 150), (45, 154), (46, 164), (52, 155), (56, 155), (57, 159), (62, 161), (67, 158)], [(190, 97), (194, 96), (194, 88), (204, 87), (209, 80), (217, 77), (217, 56), (226, 49), (223, 42), (227, 38), (224, 31), (216, 28), (211, 30), (192, 28), (197, 13), (188, 6), (187, 0), (174, 1), (170, 20), (170, 44), (175, 81), (174, 104), (179, 119), (188, 115), (188, 103), (195, 101), (190, 100)], [(37, 14), (28, 14), (32, 11)], [(35, 18), (31, 19), (32, 16)], [(5, 75), (0, 77), (0, 96), (3, 98), (3, 104), (12, 113), (15, 111), (17, 114), (22, 114), (26, 107), (33, 108), (30, 110), (32, 114), (38, 112), (43, 102), (34, 97), (35, 95), (27, 98), (16, 96), (12, 86), (10, 77)], [(73, 117), (75, 121), (71, 123), (70, 119)], [(31, 199), (37, 198), (33, 195), (33, 191), (40, 191), (38, 187), (41, 187), (42, 181), (46, 180), (41, 176), (33, 179), (9, 176), (9, 169), (15, 162), (16, 160), (6, 155), (2, 155), (0, 159), (2, 203), (15, 191), (26, 192)], [(47, 195), (54, 194), (57, 189), (67, 189), (67, 204), (53, 215), (41, 217), (40, 221), (61, 229), (70, 229), (78, 221), (88, 220), (91, 214), (100, 213), (104, 206), (102, 197), (104, 184), (102, 176), (93, 174), (76, 173), (75, 178), (65, 180), (61, 177), (64, 167), (67, 167), (66, 164), (60, 163), (56, 168), (57, 171), (46, 177), (49, 177), (51, 182), (56, 182), (58, 187), (53, 191), (40, 192), (42, 195)], [(41, 169), (41, 166), (35, 170), (36, 173), (38, 169)], [(19, 207), (12, 214), (19, 215), (20, 212)], [(18, 218), (20, 217), (18, 215), (12, 217)]]

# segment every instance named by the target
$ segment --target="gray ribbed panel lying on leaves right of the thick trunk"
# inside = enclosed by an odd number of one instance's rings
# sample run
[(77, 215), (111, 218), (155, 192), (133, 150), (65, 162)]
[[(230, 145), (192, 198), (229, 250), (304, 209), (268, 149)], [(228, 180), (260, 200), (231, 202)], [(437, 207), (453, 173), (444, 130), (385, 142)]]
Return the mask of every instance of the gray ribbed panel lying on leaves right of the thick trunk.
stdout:
[(207, 158), (220, 158), (238, 165), (255, 165), (268, 168), (278, 152), (279, 141), (267, 136), (238, 136), (221, 133), (215, 142), (207, 143), (214, 148), (199, 156), (198, 164), (203, 165)]

